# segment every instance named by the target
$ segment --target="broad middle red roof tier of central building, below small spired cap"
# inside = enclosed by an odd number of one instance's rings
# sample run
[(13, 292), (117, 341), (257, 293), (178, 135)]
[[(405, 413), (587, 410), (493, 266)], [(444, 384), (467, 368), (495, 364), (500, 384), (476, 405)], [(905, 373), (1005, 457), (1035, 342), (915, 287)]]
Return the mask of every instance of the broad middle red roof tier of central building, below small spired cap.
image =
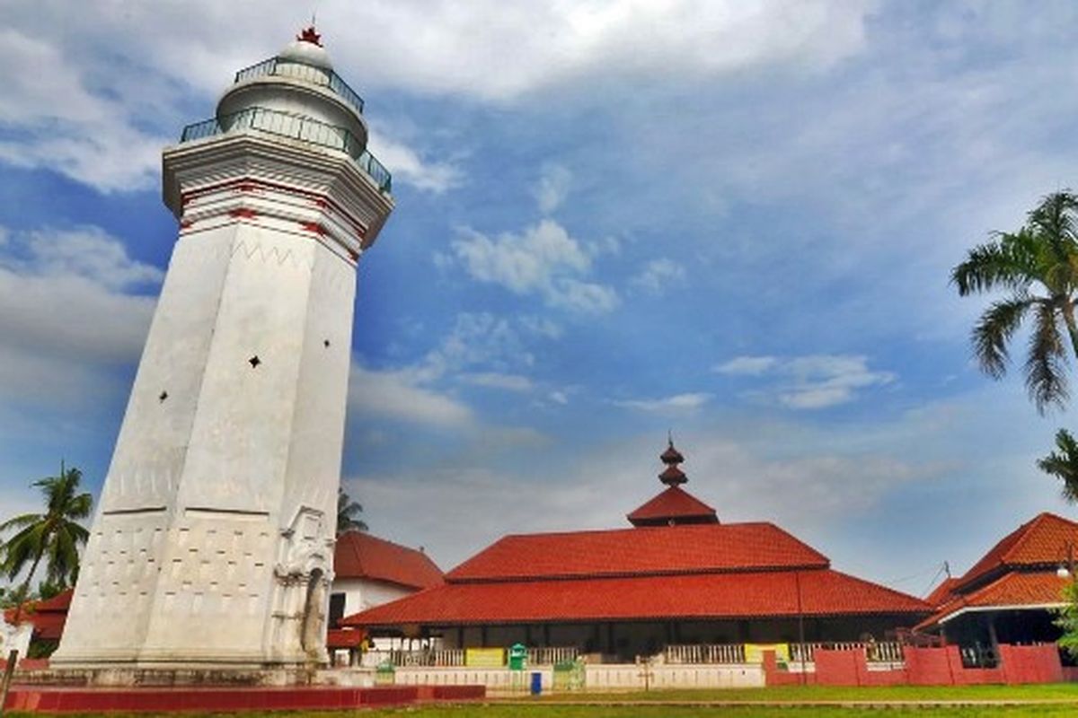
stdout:
[(505, 536), (450, 582), (826, 568), (826, 555), (772, 523), (655, 526)]

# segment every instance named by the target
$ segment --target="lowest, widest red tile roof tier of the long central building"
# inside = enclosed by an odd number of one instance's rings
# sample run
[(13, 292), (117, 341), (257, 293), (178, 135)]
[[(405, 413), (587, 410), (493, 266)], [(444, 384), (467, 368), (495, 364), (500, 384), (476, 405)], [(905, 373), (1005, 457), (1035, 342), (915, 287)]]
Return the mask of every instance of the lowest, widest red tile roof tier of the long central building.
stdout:
[[(799, 590), (800, 589), (800, 590)], [(799, 610), (800, 593), (800, 610)], [(913, 596), (828, 568), (446, 583), (344, 619), (364, 628), (544, 621), (909, 615)]]

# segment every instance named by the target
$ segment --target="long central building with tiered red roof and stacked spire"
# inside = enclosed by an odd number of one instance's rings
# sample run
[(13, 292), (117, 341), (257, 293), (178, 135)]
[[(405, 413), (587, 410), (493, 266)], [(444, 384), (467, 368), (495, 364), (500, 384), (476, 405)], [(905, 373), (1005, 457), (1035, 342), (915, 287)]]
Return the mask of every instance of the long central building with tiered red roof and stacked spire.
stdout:
[(451, 649), (520, 643), (631, 661), (671, 645), (880, 640), (928, 616), (773, 523), (721, 523), (683, 489), (673, 442), (661, 460), (666, 488), (628, 515), (632, 529), (505, 536), (444, 583), (343, 624)]

